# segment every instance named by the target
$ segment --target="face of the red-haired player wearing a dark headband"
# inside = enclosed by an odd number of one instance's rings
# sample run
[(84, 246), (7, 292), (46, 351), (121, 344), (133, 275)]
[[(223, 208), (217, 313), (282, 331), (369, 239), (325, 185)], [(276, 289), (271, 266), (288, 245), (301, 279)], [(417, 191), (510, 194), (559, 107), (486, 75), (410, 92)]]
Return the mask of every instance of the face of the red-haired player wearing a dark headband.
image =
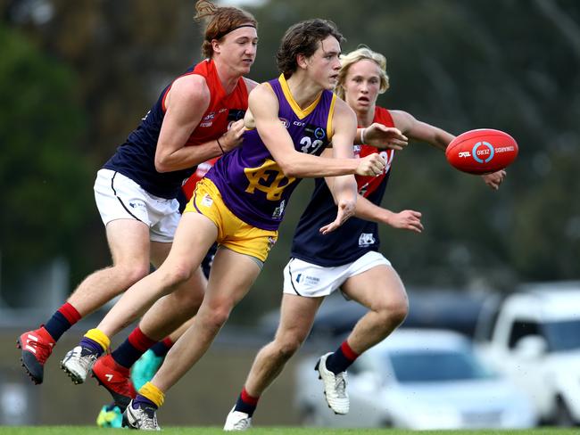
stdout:
[[(244, 27), (236, 29), (221, 40), (218, 45), (220, 58), (238, 74), (247, 74), (256, 59), (258, 34), (256, 29)], [(214, 48), (215, 51), (215, 48)]]

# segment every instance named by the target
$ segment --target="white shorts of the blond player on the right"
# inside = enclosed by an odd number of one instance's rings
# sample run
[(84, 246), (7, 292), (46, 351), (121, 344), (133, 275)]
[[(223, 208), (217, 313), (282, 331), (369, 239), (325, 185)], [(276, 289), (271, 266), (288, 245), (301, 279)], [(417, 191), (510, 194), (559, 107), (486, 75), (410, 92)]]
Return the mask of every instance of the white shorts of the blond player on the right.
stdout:
[(352, 276), (380, 265), (391, 266), (391, 262), (374, 250), (352, 263), (337, 267), (317, 266), (302, 259), (290, 259), (284, 268), (284, 292), (305, 298), (327, 296)]

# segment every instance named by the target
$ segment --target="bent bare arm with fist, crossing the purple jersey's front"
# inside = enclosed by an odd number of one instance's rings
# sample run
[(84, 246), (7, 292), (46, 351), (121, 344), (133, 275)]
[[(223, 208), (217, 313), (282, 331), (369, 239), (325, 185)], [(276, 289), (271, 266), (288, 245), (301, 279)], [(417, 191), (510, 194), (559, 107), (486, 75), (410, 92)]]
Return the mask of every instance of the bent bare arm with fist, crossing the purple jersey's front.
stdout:
[[(376, 176), (385, 168), (385, 160), (377, 154), (364, 159), (329, 159), (297, 152), (292, 138), (278, 119), (278, 99), (267, 84), (257, 86), (250, 94), (248, 103), (261, 140), (285, 176), (298, 178), (349, 174)], [(354, 127), (351, 145), (353, 136)]]

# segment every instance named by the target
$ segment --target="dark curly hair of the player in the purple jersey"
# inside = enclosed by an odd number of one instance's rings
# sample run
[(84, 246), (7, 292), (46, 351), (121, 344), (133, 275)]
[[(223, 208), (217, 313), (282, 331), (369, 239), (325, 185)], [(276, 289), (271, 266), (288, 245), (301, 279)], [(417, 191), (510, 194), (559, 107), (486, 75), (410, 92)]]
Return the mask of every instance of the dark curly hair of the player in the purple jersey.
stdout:
[(296, 56), (303, 54), (311, 57), (319, 48), (319, 43), (329, 36), (336, 37), (340, 44), (345, 41), (332, 21), (315, 18), (294, 24), (286, 30), (276, 53), (278, 70), (289, 78), (298, 68)]

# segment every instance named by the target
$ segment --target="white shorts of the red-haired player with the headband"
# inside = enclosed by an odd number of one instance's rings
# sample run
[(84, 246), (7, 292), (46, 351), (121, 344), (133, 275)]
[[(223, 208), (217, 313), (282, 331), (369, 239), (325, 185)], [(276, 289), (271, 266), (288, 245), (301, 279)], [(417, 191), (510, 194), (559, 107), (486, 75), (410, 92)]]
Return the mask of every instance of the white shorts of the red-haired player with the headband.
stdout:
[(111, 169), (96, 173), (95, 201), (104, 226), (117, 219), (137, 219), (149, 226), (153, 242), (173, 242), (179, 202), (147, 193), (127, 176)]

